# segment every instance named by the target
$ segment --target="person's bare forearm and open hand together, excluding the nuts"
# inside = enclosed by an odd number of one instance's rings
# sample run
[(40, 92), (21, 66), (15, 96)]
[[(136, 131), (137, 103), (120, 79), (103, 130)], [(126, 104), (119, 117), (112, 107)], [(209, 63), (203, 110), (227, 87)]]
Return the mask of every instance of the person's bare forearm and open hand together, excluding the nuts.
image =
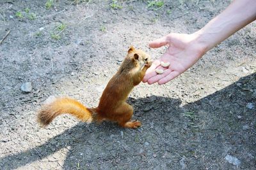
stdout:
[[(206, 52), (211, 50), (239, 29), (256, 19), (255, 0), (234, 0), (224, 11), (214, 17), (202, 29), (193, 34), (171, 33), (149, 43), (151, 48), (169, 45), (168, 50), (147, 70), (144, 83), (163, 85), (193, 66)], [(161, 61), (170, 62), (162, 67)], [(156, 69), (164, 69), (157, 74)]]

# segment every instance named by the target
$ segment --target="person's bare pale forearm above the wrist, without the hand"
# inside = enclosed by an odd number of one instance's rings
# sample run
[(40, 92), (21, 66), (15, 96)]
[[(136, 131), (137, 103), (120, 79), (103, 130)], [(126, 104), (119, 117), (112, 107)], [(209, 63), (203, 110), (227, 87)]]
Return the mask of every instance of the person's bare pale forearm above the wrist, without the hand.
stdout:
[(256, 0), (234, 0), (226, 10), (195, 32), (204, 53), (256, 19)]

